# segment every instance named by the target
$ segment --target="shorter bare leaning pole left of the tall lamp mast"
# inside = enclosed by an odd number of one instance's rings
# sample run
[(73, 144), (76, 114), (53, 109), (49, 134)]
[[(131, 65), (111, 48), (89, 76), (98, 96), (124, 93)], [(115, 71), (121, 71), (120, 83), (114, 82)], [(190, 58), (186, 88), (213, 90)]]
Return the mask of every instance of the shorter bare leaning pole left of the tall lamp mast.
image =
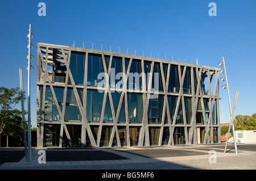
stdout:
[(24, 114), (24, 98), (23, 98), (23, 76), (22, 68), (19, 69), (19, 83), (20, 83), (20, 95), (22, 97), (21, 106), (22, 106), (22, 122), (23, 122), (23, 137), (24, 137), (24, 151), (25, 157), (27, 160), (27, 136), (26, 136), (26, 124), (25, 124), (25, 114)]

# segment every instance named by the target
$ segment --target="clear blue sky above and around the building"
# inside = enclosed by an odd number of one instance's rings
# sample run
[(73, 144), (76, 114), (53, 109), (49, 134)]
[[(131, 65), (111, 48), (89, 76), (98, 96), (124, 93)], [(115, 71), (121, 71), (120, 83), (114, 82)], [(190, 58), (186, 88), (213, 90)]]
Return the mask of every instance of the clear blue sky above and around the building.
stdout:
[[(39, 16), (39, 2), (46, 16)], [(210, 2), (217, 16), (209, 16)], [(218, 67), (225, 58), (233, 104), (240, 90), (236, 115), (256, 112), (256, 1), (1, 1), (0, 86), (19, 87), (23, 69), (27, 92), (28, 28), (37, 43), (109, 50)], [(36, 48), (31, 72), (31, 119), (36, 126)], [(220, 86), (224, 82), (220, 82)], [(221, 123), (229, 123), (228, 93), (220, 89)], [(27, 102), (25, 104), (27, 108)], [(20, 109), (20, 105), (16, 108)]]

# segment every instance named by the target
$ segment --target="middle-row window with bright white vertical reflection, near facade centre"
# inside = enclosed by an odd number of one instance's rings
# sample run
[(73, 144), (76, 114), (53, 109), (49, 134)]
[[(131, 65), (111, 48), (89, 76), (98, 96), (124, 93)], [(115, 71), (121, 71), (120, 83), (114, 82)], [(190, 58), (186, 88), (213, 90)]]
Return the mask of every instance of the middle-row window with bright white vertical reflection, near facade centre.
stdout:
[(129, 123), (142, 122), (142, 94), (127, 93)]

